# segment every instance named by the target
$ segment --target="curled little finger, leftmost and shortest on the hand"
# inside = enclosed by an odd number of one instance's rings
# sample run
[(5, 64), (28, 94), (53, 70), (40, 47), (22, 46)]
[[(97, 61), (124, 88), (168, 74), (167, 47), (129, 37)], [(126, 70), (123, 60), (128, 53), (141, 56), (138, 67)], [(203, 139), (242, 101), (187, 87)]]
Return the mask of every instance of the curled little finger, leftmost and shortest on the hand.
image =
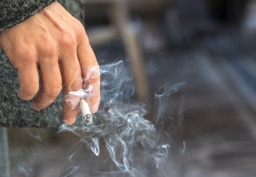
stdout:
[(18, 79), (20, 89), (18, 97), (23, 100), (32, 99), (39, 89), (37, 64), (35, 62), (27, 62), (18, 68)]

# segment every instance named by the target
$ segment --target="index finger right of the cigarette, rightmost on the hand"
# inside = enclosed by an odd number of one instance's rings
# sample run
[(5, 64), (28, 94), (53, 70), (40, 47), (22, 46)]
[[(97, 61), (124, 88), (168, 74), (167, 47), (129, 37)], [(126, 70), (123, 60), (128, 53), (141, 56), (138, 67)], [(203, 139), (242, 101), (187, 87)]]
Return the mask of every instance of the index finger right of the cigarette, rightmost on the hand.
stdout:
[(95, 113), (98, 110), (100, 99), (100, 73), (98, 62), (85, 32), (78, 45), (77, 55), (82, 70), (85, 99), (91, 113)]

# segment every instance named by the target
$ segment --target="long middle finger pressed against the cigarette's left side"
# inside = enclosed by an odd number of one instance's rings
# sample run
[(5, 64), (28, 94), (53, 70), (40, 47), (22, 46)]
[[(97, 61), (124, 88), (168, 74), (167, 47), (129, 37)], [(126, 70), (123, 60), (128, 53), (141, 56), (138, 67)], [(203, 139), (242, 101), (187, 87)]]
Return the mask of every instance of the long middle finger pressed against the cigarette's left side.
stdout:
[(75, 122), (80, 101), (80, 97), (72, 94), (72, 92), (81, 90), (83, 85), (82, 73), (76, 51), (72, 56), (67, 54), (60, 60), (60, 69), (63, 81), (62, 118), (65, 124), (71, 125)]

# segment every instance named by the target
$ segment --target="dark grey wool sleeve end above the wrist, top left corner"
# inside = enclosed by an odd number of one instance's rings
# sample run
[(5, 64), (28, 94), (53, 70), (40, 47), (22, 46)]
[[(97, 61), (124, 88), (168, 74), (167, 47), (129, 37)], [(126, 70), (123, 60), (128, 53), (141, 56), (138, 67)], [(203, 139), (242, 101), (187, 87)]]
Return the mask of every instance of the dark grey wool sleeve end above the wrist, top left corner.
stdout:
[(0, 0), (0, 33), (24, 22), (56, 0)]

